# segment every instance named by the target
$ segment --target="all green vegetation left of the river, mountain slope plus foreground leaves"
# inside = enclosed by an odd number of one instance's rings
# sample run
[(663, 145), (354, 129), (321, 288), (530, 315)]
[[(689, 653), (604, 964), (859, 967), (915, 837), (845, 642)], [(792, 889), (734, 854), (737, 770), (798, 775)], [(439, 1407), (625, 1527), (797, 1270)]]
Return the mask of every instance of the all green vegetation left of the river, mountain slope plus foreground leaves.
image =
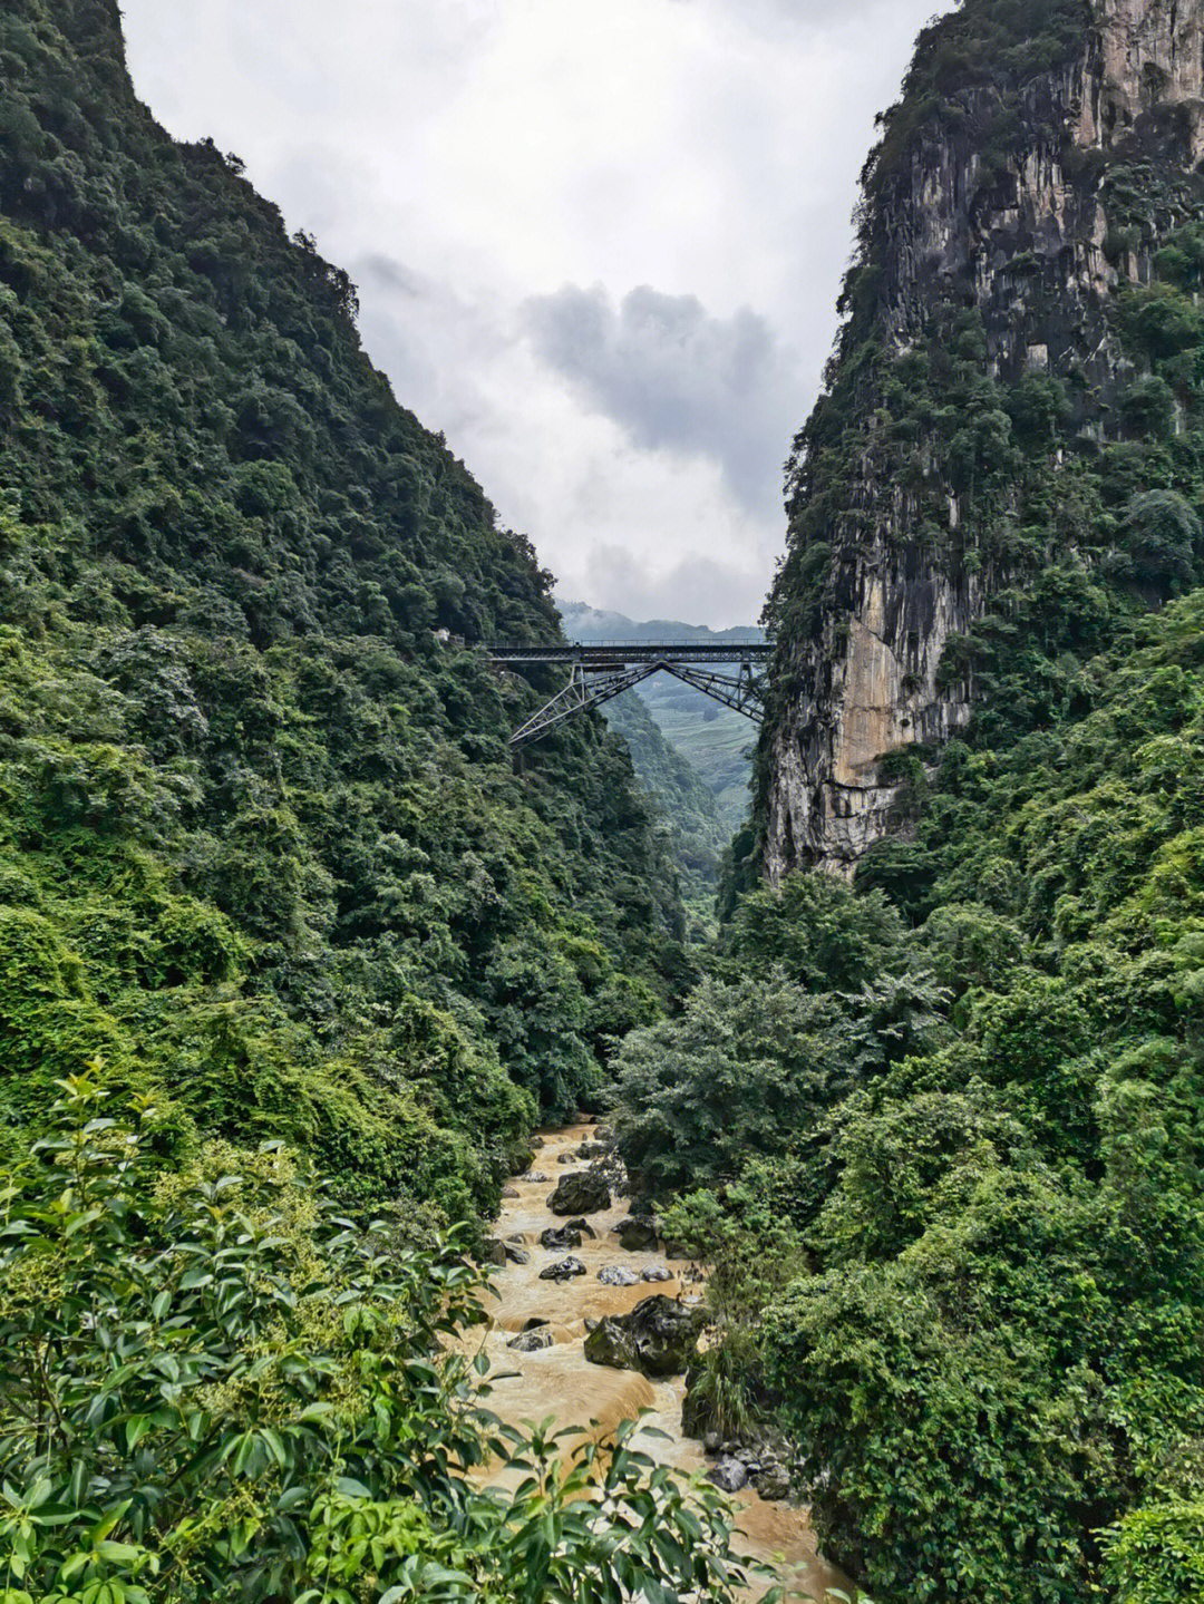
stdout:
[(710, 1489), (465, 1357), (532, 1124), (691, 977), (622, 741), (513, 770), (475, 645), (551, 576), (112, 0), (0, 63), (0, 1593), (731, 1599)]

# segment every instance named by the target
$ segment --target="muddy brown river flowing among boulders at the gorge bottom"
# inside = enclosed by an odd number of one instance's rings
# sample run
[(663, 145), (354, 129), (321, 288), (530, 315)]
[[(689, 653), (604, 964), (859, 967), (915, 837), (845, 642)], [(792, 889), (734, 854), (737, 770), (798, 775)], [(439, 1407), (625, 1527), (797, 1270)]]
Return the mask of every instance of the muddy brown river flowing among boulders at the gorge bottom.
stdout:
[[(492, 1370), (497, 1373), (489, 1407), (511, 1424), (555, 1416), (560, 1428), (588, 1428), (590, 1421), (596, 1421), (600, 1432), (609, 1432), (619, 1421), (633, 1420), (641, 1410), (648, 1410), (633, 1445), (681, 1472), (704, 1471), (712, 1461), (704, 1456), (702, 1444), (681, 1436), (683, 1378), (649, 1381), (632, 1370), (592, 1365), (584, 1354), (587, 1317), (627, 1314), (654, 1293), (699, 1298), (701, 1288), (680, 1278), (689, 1274), (689, 1266), (669, 1262), (664, 1253), (628, 1253), (620, 1248), (616, 1227), (628, 1211), (627, 1200), (620, 1198), (608, 1213), (588, 1216), (596, 1237), (585, 1237), (580, 1248), (571, 1250), (585, 1266), (585, 1275), (571, 1282), (539, 1278), (540, 1270), (566, 1256), (564, 1251), (539, 1245), (539, 1233), (545, 1227), (563, 1224), (548, 1209), (548, 1195), (566, 1169), (585, 1168), (580, 1160), (561, 1165), (560, 1156), (592, 1137), (593, 1126), (587, 1123), (543, 1131), (534, 1169), (548, 1179), (511, 1182), (518, 1197), (502, 1203), (494, 1235), (500, 1240), (521, 1237), (531, 1262), (507, 1264), (494, 1272), (500, 1296), (491, 1306), (494, 1325), (486, 1338)], [(672, 1270), (673, 1280), (661, 1285), (640, 1282), (635, 1286), (608, 1286), (598, 1280), (598, 1270), (608, 1264), (622, 1266), (636, 1275), (656, 1266)], [(553, 1346), (532, 1354), (508, 1349), (508, 1339), (531, 1318), (550, 1322)], [(649, 1426), (667, 1436), (648, 1434)], [(818, 1557), (805, 1509), (789, 1503), (766, 1503), (752, 1489), (736, 1493), (733, 1501), (741, 1533), (734, 1546), (747, 1557), (776, 1564), (789, 1598), (810, 1596), (822, 1601), (829, 1588), (843, 1588), (856, 1596), (848, 1580)], [(768, 1583), (754, 1585), (749, 1599), (760, 1598), (766, 1588)]]

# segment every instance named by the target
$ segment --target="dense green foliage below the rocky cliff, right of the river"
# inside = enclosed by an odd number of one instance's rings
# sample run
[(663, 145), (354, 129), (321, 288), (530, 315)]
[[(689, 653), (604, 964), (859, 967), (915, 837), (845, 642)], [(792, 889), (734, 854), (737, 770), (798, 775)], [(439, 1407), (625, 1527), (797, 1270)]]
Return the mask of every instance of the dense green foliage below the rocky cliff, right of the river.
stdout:
[(745, 1379), (890, 1601), (1199, 1572), (1204, 592), (1133, 630), (1077, 715), (947, 747), (882, 853), (912, 927), (822, 876), (760, 892), (741, 978), (619, 1060), (643, 1176), (808, 1253)]

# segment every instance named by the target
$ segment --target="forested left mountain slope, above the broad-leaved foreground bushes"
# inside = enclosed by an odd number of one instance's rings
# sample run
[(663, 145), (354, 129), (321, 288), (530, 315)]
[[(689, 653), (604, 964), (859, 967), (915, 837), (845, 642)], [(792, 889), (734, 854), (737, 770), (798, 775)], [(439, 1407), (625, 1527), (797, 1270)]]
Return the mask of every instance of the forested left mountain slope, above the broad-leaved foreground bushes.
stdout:
[(354, 289), (135, 99), (115, 0), (0, 14), (0, 1116), (88, 1059), (348, 1193), (487, 1203), (672, 991), (622, 744), (470, 648), (550, 576)]

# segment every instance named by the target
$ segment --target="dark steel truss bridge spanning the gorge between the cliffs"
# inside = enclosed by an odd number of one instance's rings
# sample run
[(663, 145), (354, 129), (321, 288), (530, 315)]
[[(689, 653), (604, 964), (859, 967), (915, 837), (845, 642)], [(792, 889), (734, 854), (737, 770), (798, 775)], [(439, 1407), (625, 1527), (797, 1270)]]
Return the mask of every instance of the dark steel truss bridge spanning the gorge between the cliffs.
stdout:
[[(489, 646), (489, 661), (499, 669), (521, 669), (545, 662), (569, 670), (569, 683), (510, 736), (518, 751), (539, 741), (556, 725), (574, 719), (588, 707), (601, 707), (622, 691), (654, 674), (673, 678), (725, 707), (734, 707), (745, 719), (763, 719), (762, 680), (754, 672), (773, 656), (773, 645), (718, 646), (693, 642), (604, 642), (556, 646)], [(723, 670), (723, 672), (717, 672)], [(734, 670), (734, 672), (733, 672)]]

